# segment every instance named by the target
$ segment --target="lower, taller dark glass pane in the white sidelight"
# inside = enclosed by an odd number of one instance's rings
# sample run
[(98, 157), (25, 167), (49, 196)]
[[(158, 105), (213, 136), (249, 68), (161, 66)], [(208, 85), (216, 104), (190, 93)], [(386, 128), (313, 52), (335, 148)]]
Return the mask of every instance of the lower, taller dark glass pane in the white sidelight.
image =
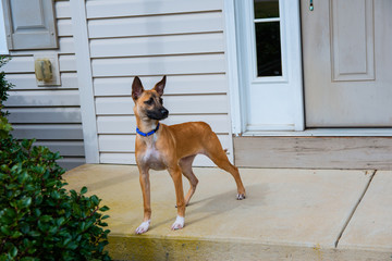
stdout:
[(256, 23), (257, 76), (281, 76), (280, 22)]

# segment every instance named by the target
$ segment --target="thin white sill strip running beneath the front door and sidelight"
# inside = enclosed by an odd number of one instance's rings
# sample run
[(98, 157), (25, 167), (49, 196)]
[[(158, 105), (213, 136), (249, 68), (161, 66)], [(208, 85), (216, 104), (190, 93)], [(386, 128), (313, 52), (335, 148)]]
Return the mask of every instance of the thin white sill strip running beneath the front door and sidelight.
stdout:
[(304, 132), (246, 132), (243, 137), (392, 137), (392, 128), (309, 128)]

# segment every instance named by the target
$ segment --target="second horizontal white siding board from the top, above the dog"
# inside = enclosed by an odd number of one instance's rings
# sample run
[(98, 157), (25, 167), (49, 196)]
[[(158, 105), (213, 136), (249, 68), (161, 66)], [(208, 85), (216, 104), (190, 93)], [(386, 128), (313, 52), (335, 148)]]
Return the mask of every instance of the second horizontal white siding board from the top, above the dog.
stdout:
[(222, 32), (223, 21), (221, 12), (89, 20), (88, 34), (89, 38), (112, 38)]

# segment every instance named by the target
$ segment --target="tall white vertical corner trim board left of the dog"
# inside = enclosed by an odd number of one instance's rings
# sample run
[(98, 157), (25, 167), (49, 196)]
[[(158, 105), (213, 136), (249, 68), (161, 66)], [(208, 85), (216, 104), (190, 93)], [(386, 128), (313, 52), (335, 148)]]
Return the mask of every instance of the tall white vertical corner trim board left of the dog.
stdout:
[(86, 163), (99, 163), (98, 132), (85, 1), (70, 0), (70, 8), (75, 40), (76, 70)]

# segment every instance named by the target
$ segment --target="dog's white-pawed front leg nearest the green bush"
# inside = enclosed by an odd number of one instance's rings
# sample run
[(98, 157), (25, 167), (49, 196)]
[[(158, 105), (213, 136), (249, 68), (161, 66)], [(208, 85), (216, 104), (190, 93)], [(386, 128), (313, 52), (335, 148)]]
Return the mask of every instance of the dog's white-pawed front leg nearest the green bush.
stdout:
[(136, 228), (136, 234), (146, 233), (151, 221), (150, 183), (148, 170), (139, 169), (139, 182), (143, 192), (144, 219), (143, 223)]

